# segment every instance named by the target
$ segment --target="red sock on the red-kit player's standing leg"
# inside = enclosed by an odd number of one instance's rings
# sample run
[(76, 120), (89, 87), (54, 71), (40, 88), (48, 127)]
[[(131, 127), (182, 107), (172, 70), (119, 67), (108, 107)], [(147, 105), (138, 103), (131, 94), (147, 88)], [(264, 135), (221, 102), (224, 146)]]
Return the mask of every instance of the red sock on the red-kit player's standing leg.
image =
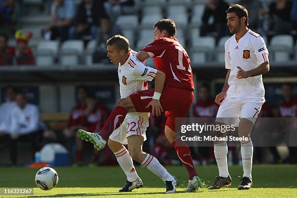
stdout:
[(181, 138), (173, 142), (172, 146), (175, 148), (175, 152), (179, 156), (181, 163), (187, 169), (189, 180), (192, 180), (193, 177), (198, 174), (193, 164), (189, 146), (185, 142), (181, 141)]

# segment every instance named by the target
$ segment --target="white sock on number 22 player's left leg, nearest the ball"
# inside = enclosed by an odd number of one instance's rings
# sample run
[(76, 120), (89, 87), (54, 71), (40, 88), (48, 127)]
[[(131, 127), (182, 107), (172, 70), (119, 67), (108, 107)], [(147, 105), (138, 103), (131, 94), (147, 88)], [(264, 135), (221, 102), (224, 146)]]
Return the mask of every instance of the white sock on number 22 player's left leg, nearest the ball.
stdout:
[(119, 151), (115, 152), (115, 157), (118, 164), (121, 166), (124, 173), (127, 175), (128, 181), (135, 181), (138, 178), (135, 167), (128, 150), (124, 147)]

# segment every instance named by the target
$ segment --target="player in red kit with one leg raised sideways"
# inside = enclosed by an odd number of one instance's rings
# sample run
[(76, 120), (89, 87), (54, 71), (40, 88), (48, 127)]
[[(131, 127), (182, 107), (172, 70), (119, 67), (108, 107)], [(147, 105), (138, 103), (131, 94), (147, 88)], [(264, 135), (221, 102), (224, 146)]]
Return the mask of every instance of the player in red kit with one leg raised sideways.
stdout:
[[(175, 34), (174, 21), (161, 19), (154, 24), (154, 41), (137, 53), (140, 61), (154, 58), (156, 69), (165, 73), (164, 85), (155, 78), (154, 89), (139, 91), (128, 98), (119, 99), (96, 137), (88, 132), (79, 135), (82, 139), (91, 141), (96, 148), (103, 149), (109, 135), (121, 125), (128, 112), (152, 112), (158, 116), (165, 111), (165, 135), (188, 171), (189, 183), (186, 190), (195, 191), (202, 183), (195, 170), (190, 148), (175, 133), (175, 118), (187, 117), (193, 102), (193, 74), (189, 56), (174, 37)], [(146, 75), (146, 71), (143, 75)]]

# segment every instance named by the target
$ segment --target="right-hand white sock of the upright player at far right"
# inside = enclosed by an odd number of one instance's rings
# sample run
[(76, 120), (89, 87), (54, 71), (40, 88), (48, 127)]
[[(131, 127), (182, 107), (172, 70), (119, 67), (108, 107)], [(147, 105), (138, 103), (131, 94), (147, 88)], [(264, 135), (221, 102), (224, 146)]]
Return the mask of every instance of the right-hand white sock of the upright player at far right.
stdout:
[(243, 177), (248, 177), (251, 179), (251, 168), (253, 164), (253, 143), (250, 140), (248, 143), (241, 144), (241, 158), (242, 158), (242, 167), (244, 170)]

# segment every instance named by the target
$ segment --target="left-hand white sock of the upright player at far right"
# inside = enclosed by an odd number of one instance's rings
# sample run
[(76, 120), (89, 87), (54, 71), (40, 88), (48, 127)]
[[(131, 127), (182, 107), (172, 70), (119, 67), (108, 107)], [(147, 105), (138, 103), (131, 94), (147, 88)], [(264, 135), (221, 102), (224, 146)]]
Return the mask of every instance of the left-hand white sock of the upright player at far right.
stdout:
[(214, 157), (219, 169), (219, 176), (220, 177), (228, 177), (228, 164), (227, 164), (227, 153), (228, 147), (227, 142), (224, 141), (222, 143), (214, 143)]

